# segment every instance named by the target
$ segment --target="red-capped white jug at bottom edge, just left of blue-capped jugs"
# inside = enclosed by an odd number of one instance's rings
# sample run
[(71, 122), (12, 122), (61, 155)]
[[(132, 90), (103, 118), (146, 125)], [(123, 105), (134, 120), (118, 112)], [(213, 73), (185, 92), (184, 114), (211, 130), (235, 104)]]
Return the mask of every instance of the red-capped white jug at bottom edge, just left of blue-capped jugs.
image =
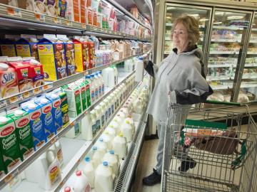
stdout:
[(74, 183), (74, 192), (90, 192), (91, 186), (89, 180), (82, 171), (76, 171), (76, 179)]

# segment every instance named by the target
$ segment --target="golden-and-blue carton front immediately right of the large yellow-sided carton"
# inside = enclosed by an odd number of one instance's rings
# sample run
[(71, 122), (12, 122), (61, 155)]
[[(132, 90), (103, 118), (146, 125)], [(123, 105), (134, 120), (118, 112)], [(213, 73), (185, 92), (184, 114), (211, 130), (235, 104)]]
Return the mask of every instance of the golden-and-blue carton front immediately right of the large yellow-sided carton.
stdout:
[(68, 76), (74, 75), (75, 71), (75, 49), (74, 43), (65, 43), (66, 50), (66, 66)]

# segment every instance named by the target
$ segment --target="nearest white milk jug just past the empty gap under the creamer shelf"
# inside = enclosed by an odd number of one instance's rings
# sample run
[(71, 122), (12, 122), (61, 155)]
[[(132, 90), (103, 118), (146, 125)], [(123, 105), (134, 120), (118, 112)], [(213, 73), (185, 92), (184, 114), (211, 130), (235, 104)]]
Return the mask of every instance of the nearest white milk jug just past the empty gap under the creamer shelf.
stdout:
[(91, 114), (88, 112), (85, 117), (81, 119), (81, 135), (86, 141), (91, 141), (93, 139)]

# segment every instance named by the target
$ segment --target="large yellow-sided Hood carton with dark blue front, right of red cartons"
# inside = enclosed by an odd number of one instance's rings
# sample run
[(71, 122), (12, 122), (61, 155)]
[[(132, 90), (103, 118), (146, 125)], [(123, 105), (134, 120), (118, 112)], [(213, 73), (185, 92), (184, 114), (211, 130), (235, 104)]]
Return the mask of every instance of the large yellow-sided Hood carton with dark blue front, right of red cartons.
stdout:
[(55, 35), (44, 35), (38, 43), (39, 60), (43, 65), (44, 78), (48, 81), (67, 77), (64, 43)]

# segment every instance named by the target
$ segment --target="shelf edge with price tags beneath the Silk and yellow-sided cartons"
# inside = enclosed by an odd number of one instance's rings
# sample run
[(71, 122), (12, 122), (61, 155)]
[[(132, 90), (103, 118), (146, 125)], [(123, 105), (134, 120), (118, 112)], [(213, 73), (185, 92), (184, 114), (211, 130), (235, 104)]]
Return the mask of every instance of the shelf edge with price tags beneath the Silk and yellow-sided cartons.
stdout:
[[(143, 54), (140, 54), (140, 55), (144, 55), (144, 54), (148, 54), (148, 53), (149, 53), (149, 51), (147, 53), (143, 53)], [(54, 82), (47, 82), (46, 85), (42, 85), (40, 87), (36, 87), (34, 89), (31, 89), (31, 90), (20, 92), (16, 95), (11, 95), (10, 97), (6, 97), (6, 98), (0, 100), (0, 112), (3, 112), (4, 110), (6, 110), (6, 107), (12, 107), (12, 106), (17, 105), (21, 102), (25, 102), (26, 100), (30, 100), (32, 97), (41, 95), (43, 92), (49, 92), (51, 90), (55, 90), (56, 88), (61, 87), (62, 85), (67, 85), (70, 82), (74, 82), (76, 80), (84, 78), (84, 76), (87, 75), (87, 74), (94, 73), (98, 70), (103, 70), (104, 68), (108, 68), (111, 65), (116, 65), (118, 63), (124, 62), (125, 60), (129, 60), (130, 58), (133, 58), (133, 57), (136, 57), (136, 56), (139, 56), (139, 55), (133, 55), (129, 58), (116, 60), (116, 61), (111, 62), (109, 64), (101, 65), (99, 67), (86, 70), (82, 73), (77, 73), (75, 75), (71, 75), (71, 76), (69, 76), (67, 78), (63, 78), (61, 80), (56, 80)]]

